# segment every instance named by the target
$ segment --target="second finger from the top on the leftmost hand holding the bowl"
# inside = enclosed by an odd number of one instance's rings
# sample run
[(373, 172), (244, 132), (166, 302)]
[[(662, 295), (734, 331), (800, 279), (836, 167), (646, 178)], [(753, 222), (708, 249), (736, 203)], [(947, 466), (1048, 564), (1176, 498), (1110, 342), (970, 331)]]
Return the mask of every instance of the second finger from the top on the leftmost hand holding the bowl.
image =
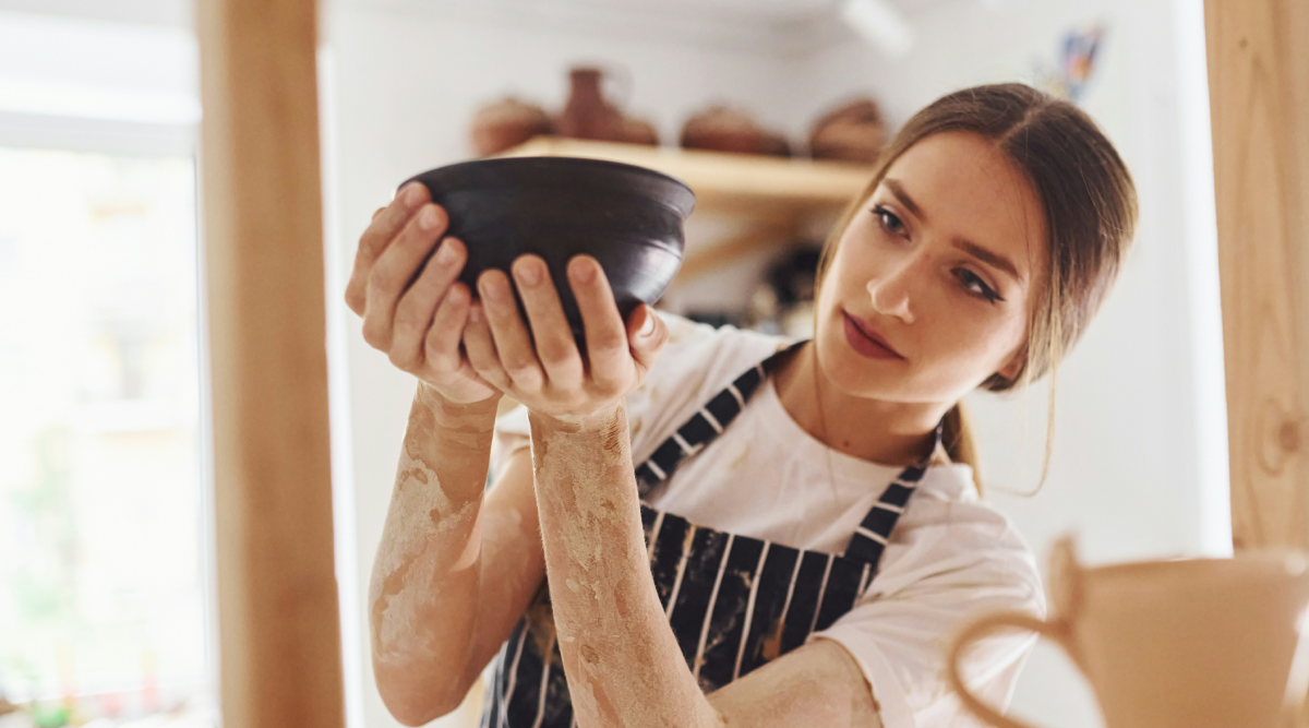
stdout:
[(364, 339), (373, 347), (390, 350), (395, 305), (423, 259), (441, 238), (446, 221), (444, 209), (435, 204), (423, 206), (373, 266), (364, 304)]

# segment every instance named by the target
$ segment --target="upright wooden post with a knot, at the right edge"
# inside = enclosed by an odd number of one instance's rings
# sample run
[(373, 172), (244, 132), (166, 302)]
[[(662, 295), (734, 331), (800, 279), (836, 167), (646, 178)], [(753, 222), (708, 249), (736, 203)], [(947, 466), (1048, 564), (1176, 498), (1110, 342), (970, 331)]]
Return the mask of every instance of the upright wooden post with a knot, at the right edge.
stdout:
[(1237, 549), (1309, 547), (1309, 3), (1206, 0)]

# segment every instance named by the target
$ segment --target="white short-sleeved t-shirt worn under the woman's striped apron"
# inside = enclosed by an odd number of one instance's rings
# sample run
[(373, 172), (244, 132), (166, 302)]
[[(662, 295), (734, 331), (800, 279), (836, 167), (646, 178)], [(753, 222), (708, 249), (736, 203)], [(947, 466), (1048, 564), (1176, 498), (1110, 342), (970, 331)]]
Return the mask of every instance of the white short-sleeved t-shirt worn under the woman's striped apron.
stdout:
[[(791, 343), (661, 316), (669, 343), (627, 399), (634, 464), (732, 380)], [(529, 446), (526, 411), (501, 416), (496, 433), (501, 460)], [(829, 450), (791, 418), (770, 380), (647, 501), (696, 525), (840, 554), (901, 470)], [(809, 639), (835, 640), (855, 656), (886, 728), (978, 725), (946, 681), (946, 640), (978, 613), (1000, 609), (1045, 617), (1031, 550), (978, 499), (969, 466), (937, 465), (919, 482), (863, 597)], [(1008, 706), (1034, 643), (1025, 634), (982, 640), (966, 653), (963, 678), (987, 703)]]

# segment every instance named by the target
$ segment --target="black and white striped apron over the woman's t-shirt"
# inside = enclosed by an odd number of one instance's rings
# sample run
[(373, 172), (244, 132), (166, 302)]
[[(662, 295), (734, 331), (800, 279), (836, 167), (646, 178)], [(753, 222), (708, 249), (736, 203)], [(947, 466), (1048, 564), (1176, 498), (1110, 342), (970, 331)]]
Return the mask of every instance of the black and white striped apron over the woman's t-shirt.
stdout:
[[(636, 469), (643, 499), (732, 423), (781, 354), (737, 377)], [(906, 467), (891, 482), (843, 555), (696, 526), (641, 504), (660, 602), (706, 693), (800, 647), (855, 606), (927, 464)], [(492, 676), (482, 728), (575, 725), (545, 585), (492, 663)]]

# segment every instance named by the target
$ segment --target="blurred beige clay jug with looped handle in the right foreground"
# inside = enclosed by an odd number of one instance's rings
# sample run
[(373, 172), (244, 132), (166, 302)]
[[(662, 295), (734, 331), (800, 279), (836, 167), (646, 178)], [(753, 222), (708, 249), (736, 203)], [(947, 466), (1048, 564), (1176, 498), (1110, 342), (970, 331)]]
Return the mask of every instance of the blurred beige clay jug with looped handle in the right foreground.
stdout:
[(1030, 728), (974, 697), (959, 676), (969, 646), (1001, 630), (1052, 639), (1090, 682), (1106, 728), (1304, 725), (1309, 690), (1309, 559), (1258, 551), (1084, 568), (1055, 543), (1052, 617), (979, 618), (954, 638), (949, 676), (963, 704), (1000, 728)]

